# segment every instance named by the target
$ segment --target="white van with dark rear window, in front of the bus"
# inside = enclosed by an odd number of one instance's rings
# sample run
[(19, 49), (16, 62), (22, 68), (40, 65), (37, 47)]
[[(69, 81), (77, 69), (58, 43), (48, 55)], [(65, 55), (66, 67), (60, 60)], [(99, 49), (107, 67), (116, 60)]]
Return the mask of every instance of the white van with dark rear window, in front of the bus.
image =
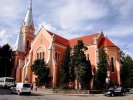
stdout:
[(16, 83), (13, 87), (10, 88), (11, 93), (20, 94), (31, 94), (30, 83)]

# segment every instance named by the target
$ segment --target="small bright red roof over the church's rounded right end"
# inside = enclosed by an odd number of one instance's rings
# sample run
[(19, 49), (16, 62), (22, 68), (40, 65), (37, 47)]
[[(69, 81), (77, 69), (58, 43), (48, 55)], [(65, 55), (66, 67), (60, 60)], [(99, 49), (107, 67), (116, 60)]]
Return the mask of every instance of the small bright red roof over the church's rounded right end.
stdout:
[(112, 43), (108, 38), (103, 38), (98, 47), (105, 46), (105, 47), (117, 47), (114, 43)]

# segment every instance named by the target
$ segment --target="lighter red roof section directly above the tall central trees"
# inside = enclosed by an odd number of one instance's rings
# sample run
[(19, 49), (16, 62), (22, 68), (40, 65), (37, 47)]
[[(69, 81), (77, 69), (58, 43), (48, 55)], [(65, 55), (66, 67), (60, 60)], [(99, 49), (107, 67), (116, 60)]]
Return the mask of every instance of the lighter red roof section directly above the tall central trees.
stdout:
[(78, 37), (75, 39), (70, 39), (69, 44), (70, 46), (75, 46), (78, 40), (82, 40), (85, 45), (93, 44), (93, 39), (94, 37), (97, 37), (97, 36), (98, 36), (98, 33), (95, 33), (95, 34), (91, 34), (83, 37)]

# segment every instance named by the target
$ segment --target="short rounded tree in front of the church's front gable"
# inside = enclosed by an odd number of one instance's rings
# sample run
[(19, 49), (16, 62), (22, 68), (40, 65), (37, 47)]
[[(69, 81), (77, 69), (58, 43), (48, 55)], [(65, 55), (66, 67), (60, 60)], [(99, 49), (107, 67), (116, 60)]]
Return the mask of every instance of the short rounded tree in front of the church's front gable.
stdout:
[(50, 77), (49, 77), (50, 70), (43, 59), (35, 60), (34, 64), (31, 66), (31, 70), (37, 76), (36, 77), (37, 86), (48, 85), (48, 83), (50, 82)]

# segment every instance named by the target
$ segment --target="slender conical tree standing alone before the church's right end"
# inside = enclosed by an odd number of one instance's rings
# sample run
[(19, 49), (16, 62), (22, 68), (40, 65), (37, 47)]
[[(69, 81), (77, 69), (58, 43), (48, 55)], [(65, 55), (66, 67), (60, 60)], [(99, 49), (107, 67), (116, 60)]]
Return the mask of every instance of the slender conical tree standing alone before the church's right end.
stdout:
[(97, 66), (97, 71), (95, 75), (95, 85), (97, 85), (97, 88), (103, 88), (105, 85), (105, 79), (107, 77), (107, 71), (109, 69), (109, 64), (107, 61), (106, 53), (104, 51), (104, 47), (100, 47), (99, 49), (99, 63)]

